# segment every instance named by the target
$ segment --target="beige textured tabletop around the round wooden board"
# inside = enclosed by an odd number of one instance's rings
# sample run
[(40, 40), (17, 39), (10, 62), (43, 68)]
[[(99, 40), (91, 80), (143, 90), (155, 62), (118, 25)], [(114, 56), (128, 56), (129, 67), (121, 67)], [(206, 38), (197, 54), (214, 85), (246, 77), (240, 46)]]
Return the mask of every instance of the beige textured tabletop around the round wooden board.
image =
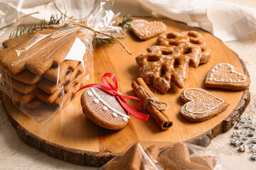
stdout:
[[(256, 8), (255, 0), (222, 0)], [(114, 13), (119, 11), (136, 16), (150, 16), (150, 13), (137, 5), (135, 1), (117, 0), (113, 7)], [(236, 52), (250, 73), (251, 101), (242, 116), (253, 115), (256, 112), (256, 30), (241, 40), (225, 43)], [(238, 147), (230, 144), (234, 128), (215, 137), (208, 148), (215, 149), (223, 164), (223, 169), (256, 169), (256, 162), (250, 159), (250, 152), (238, 152)], [(23, 143), (16, 134), (5, 111), (0, 106), (0, 169), (95, 169), (87, 166), (69, 164), (60, 159), (49, 157), (43, 152)]]

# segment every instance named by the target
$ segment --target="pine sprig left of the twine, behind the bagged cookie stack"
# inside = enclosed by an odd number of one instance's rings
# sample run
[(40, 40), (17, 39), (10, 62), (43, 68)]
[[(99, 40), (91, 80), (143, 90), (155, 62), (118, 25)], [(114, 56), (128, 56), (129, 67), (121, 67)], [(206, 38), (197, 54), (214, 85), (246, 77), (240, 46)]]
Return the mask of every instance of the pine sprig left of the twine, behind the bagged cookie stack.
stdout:
[(59, 25), (60, 23), (63, 23), (65, 21), (66, 15), (61, 14), (58, 16), (57, 14), (50, 16), (50, 21), (46, 22), (45, 19), (41, 19), (38, 24), (35, 25), (26, 25), (20, 28), (16, 29), (16, 32), (11, 33), (9, 35), (9, 38), (15, 38), (20, 35), (24, 35), (26, 33), (31, 33), (33, 30), (35, 30), (38, 26), (53, 26), (53, 25)]

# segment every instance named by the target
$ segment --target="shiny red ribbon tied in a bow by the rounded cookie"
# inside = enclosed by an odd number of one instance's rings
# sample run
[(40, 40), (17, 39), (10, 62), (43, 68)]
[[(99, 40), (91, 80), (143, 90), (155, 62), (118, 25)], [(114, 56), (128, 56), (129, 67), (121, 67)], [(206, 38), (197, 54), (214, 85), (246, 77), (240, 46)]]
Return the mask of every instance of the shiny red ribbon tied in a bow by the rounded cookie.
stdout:
[[(110, 77), (110, 79), (112, 79), (114, 86), (112, 86), (112, 84), (110, 84), (110, 82), (107, 81), (106, 77)], [(144, 120), (144, 121), (146, 121), (149, 118), (149, 115), (145, 115), (145, 114), (140, 113), (135, 110), (135, 108), (139, 108), (139, 106), (142, 105), (142, 101), (139, 98), (134, 97), (134, 96), (122, 95), (118, 92), (117, 78), (114, 76), (114, 74), (105, 73), (104, 76), (102, 77), (102, 83), (104, 85), (88, 84), (86, 86), (82, 86), (82, 88), (80, 88), (78, 91), (88, 88), (88, 87), (96, 87), (97, 89), (101, 89), (102, 91), (107, 92), (107, 94), (110, 94), (110, 95), (114, 96), (115, 98), (117, 98), (117, 101), (119, 101), (119, 103), (124, 108), (124, 110), (131, 113), (132, 115), (134, 115), (135, 118), (138, 118), (139, 120)], [(75, 92), (75, 94), (77, 94), (78, 91)], [(75, 96), (75, 94), (74, 94), (74, 96)], [(137, 101), (139, 101), (139, 105), (135, 108), (132, 108), (131, 106), (128, 105), (128, 103), (124, 100), (124, 98), (131, 98), (131, 99), (137, 100)]]

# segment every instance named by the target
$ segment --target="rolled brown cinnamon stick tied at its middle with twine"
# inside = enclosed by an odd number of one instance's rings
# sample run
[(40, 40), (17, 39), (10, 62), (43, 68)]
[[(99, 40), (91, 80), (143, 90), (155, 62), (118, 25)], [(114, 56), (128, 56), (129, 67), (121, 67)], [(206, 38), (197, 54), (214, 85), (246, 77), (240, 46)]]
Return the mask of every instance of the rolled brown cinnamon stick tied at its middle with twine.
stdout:
[[(132, 82), (132, 89), (134, 90), (135, 94), (137, 94), (138, 98), (141, 99), (143, 102), (148, 101), (149, 96), (150, 98), (154, 98), (154, 94), (151, 92), (151, 90), (142, 78), (137, 78), (135, 81)], [(156, 120), (156, 123), (160, 125), (161, 129), (167, 130), (171, 128), (173, 122), (166, 114), (166, 111), (159, 111), (159, 105), (160, 104), (157, 104), (156, 106), (156, 104), (153, 104), (152, 102), (147, 102), (145, 108), (154, 118), (154, 120)]]

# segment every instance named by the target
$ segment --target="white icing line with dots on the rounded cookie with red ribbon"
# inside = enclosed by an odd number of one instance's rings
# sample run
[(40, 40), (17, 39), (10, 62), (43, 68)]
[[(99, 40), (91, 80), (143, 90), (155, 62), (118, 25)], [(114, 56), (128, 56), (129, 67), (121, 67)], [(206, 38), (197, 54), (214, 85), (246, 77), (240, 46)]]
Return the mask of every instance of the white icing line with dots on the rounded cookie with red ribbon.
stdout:
[[(92, 94), (92, 96), (94, 95), (94, 96), (96, 96), (97, 97), (97, 99), (101, 102), (101, 103), (103, 103), (103, 107), (102, 107), (102, 110), (103, 111), (107, 111), (108, 109), (110, 109), (111, 111), (113, 111), (114, 113), (116, 113), (116, 114), (118, 114), (118, 115), (121, 115), (123, 118), (122, 118), (122, 120), (124, 120), (124, 122), (127, 122), (127, 120), (130, 118), (129, 117), (129, 115), (125, 115), (124, 113), (121, 113), (121, 112), (119, 112), (119, 111), (117, 111), (115, 108), (112, 108), (112, 106), (110, 106), (107, 102), (105, 102), (98, 94), (97, 94), (97, 92), (95, 91), (95, 89), (93, 89), (92, 87), (90, 88), (90, 91), (87, 91), (87, 94), (88, 94), (88, 92), (90, 92), (91, 94)], [(89, 93), (89, 94), (90, 94)], [(113, 114), (112, 114), (113, 115)], [(114, 116), (114, 115), (113, 115)], [(116, 117), (114, 117), (114, 118), (116, 118)]]

